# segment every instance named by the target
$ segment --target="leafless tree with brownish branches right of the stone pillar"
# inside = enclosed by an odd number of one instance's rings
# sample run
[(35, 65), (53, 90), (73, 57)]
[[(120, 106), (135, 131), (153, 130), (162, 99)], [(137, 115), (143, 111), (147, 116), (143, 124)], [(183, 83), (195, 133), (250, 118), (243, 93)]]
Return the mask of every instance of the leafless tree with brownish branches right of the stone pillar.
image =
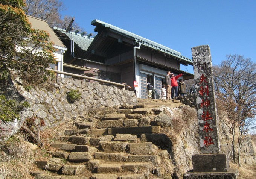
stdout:
[[(229, 127), (233, 161), (240, 164), (240, 151), (245, 137), (256, 127), (256, 63), (242, 55), (227, 55), (214, 66), (216, 96), (221, 103), (220, 119)], [(221, 112), (221, 111), (219, 111)], [(235, 136), (238, 135), (237, 143)]]

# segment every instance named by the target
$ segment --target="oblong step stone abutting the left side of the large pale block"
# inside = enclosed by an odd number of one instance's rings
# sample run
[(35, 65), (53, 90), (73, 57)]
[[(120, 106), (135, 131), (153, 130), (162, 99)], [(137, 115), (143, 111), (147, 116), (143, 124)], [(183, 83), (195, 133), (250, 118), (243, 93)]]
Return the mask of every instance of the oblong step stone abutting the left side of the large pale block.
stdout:
[(104, 152), (125, 152), (128, 142), (99, 142), (99, 147)]

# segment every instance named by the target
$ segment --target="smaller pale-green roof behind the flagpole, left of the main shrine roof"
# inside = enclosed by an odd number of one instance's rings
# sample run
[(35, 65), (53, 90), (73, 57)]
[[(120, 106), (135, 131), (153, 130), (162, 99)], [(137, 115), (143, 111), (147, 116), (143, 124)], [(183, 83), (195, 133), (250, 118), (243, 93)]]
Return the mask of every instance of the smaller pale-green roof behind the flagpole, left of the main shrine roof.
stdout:
[(90, 46), (91, 42), (93, 41), (93, 38), (88, 37), (86, 35), (81, 35), (79, 33), (75, 33), (75, 32), (66, 32), (65, 29), (61, 29), (58, 27), (53, 27), (53, 29), (59, 30), (61, 33), (64, 33), (69, 39), (71, 39), (71, 35), (72, 35), (72, 39), (74, 38), (75, 43), (81, 47), (82, 50), (86, 51), (88, 49), (88, 47)]

